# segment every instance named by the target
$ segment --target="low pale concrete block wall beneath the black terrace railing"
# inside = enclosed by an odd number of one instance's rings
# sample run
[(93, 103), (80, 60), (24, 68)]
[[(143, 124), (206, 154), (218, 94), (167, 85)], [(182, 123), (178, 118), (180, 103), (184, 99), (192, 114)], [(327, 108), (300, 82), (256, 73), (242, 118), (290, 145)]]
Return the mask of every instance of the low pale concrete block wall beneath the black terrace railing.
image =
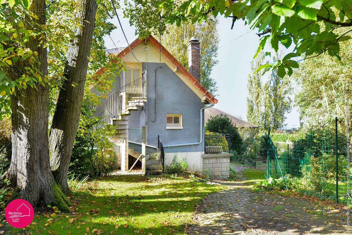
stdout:
[[(209, 172), (211, 179), (230, 176), (230, 154), (203, 155), (203, 170)], [(223, 155), (223, 156), (221, 156)]]

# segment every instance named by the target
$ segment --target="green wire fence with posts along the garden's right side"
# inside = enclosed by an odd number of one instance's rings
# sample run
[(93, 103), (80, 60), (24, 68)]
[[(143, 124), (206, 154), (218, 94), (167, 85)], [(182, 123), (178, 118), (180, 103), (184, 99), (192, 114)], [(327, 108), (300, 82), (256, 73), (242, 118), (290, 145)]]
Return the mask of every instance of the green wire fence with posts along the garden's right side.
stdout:
[(268, 136), (266, 178), (300, 179), (314, 193), (337, 203), (351, 203), (352, 165), (337, 119), (334, 126), (311, 125), (302, 138), (293, 142), (273, 142), (270, 128)]

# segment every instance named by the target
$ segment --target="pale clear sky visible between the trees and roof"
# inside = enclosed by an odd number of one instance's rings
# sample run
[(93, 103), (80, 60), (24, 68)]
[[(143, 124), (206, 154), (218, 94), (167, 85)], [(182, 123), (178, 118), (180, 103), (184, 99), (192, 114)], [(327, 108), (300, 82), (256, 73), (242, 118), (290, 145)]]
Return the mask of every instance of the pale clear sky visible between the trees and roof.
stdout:
[[(128, 19), (123, 18), (121, 10), (118, 10), (118, 15), (128, 43), (133, 42), (137, 38), (135, 28), (130, 26)], [(115, 48), (115, 45), (127, 46), (117, 18), (112, 19), (111, 23), (116, 25), (117, 29), (110, 34), (111, 38), (109, 36), (104, 38), (106, 48)], [(235, 22), (232, 30), (231, 24), (231, 18), (225, 19), (220, 16), (217, 57), (219, 63), (214, 66), (211, 74), (218, 86), (216, 99), (219, 102), (214, 107), (247, 120), (247, 76), (259, 44), (259, 37), (241, 20)], [(291, 98), (293, 99), (293, 96)], [(287, 119), (284, 124), (288, 127), (298, 127), (300, 122), (297, 107), (292, 107), (291, 112), (285, 116)]]

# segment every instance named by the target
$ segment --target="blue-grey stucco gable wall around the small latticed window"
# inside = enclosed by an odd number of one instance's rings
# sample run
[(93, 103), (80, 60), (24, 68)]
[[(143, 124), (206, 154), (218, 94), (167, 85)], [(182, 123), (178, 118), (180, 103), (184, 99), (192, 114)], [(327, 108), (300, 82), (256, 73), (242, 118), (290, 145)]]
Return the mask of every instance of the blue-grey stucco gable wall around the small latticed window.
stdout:
[[(164, 146), (199, 142), (200, 109), (204, 103), (166, 64), (158, 66), (142, 63), (142, 70), (147, 70), (147, 144), (157, 146), (158, 135)], [(166, 114), (182, 114), (183, 129), (166, 129)], [(203, 143), (165, 148), (165, 152), (200, 151)]]

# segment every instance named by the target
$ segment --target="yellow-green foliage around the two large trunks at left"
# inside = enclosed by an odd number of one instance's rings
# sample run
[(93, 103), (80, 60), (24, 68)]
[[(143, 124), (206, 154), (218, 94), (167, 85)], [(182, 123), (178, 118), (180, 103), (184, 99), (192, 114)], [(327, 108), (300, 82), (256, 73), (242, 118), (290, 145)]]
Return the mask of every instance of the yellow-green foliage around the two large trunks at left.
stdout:
[[(108, 0), (100, 0), (94, 22), (92, 48), (88, 64), (85, 96), (95, 103), (101, 97), (95, 96), (90, 87), (94, 86), (102, 94), (111, 90), (113, 80), (107, 79), (115, 70), (122, 69), (122, 63), (111, 55), (105, 55), (103, 37), (110, 34), (115, 26), (111, 19), (112, 6)], [(15, 88), (26, 89), (28, 86), (44, 85), (50, 89), (50, 115), (53, 114), (59, 89), (65, 77), (64, 65), (68, 44), (76, 37), (75, 28), (80, 27), (79, 6), (74, 0), (53, 1), (46, 9), (46, 22), (40, 25), (34, 21), (37, 12), (29, 9), (29, 3), (23, 1), (0, 0), (0, 120), (11, 112), (10, 96)], [(118, 6), (119, 7), (119, 6)], [(37, 13), (39, 14), (39, 13)], [(30, 50), (28, 42), (31, 37), (42, 39), (40, 45), (48, 49), (46, 59), (37, 58), (37, 53)], [(36, 62), (48, 65), (48, 76), (43, 76), (33, 66)], [(25, 70), (21, 65), (25, 64)], [(99, 75), (95, 71), (104, 67)], [(75, 86), (75, 84), (73, 84)], [(105, 95), (103, 95), (105, 96)]]

